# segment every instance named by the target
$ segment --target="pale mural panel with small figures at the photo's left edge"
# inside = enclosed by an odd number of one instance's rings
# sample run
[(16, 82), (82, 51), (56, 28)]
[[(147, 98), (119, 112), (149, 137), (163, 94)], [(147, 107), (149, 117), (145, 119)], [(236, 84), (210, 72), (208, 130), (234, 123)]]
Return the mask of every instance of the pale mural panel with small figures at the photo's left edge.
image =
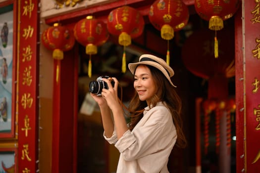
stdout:
[(0, 7), (0, 137), (12, 137), (13, 4)]

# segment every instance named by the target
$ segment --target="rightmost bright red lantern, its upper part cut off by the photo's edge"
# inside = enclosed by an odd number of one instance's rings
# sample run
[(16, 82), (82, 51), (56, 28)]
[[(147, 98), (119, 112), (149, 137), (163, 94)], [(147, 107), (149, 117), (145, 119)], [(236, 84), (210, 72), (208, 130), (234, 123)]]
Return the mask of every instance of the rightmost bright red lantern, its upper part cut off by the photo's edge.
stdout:
[(199, 16), (209, 21), (208, 28), (215, 31), (214, 55), (218, 57), (216, 31), (221, 30), (223, 21), (232, 17), (238, 9), (239, 0), (195, 0), (195, 9)]

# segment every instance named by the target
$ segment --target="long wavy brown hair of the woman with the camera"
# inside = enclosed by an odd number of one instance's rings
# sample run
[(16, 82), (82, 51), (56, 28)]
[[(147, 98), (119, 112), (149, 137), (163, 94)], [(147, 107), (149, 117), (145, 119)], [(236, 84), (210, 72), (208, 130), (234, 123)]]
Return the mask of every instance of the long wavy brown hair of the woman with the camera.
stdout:
[[(155, 67), (146, 65), (152, 74), (153, 80), (155, 81), (157, 92), (151, 98), (151, 107), (156, 106), (160, 101), (163, 101), (166, 107), (172, 114), (172, 119), (176, 127), (177, 141), (176, 146), (184, 148), (187, 145), (185, 135), (182, 130), (182, 119), (181, 119), (181, 99), (178, 96), (175, 88), (169, 83), (166, 77)], [(143, 118), (143, 110), (147, 107), (146, 101), (141, 101), (137, 92), (135, 91), (134, 97), (129, 104), (130, 113), (130, 130), (133, 130), (137, 123)]]

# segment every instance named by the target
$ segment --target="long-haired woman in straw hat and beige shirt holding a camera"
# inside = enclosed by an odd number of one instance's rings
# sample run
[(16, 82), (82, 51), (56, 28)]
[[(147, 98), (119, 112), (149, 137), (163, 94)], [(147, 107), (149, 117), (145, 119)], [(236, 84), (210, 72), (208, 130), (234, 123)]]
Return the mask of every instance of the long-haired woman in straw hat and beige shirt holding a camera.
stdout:
[(128, 67), (135, 88), (129, 124), (117, 96), (116, 78), (112, 78), (114, 87), (103, 79), (108, 89), (102, 90), (102, 96), (91, 93), (100, 106), (104, 138), (120, 152), (117, 173), (169, 173), (167, 162), (173, 146), (186, 145), (181, 100), (170, 80), (174, 72), (164, 60), (150, 54), (141, 55), (139, 62)]

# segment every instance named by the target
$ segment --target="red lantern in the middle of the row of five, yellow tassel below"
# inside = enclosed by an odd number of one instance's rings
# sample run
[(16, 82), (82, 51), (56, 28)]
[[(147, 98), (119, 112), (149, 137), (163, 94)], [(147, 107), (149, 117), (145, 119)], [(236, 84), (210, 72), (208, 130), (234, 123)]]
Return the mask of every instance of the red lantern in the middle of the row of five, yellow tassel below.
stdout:
[(124, 46), (123, 73), (126, 71), (125, 46), (131, 44), (131, 39), (135, 39), (143, 33), (144, 25), (144, 18), (139, 11), (127, 5), (112, 10), (107, 17), (108, 32), (119, 36), (118, 43)]

